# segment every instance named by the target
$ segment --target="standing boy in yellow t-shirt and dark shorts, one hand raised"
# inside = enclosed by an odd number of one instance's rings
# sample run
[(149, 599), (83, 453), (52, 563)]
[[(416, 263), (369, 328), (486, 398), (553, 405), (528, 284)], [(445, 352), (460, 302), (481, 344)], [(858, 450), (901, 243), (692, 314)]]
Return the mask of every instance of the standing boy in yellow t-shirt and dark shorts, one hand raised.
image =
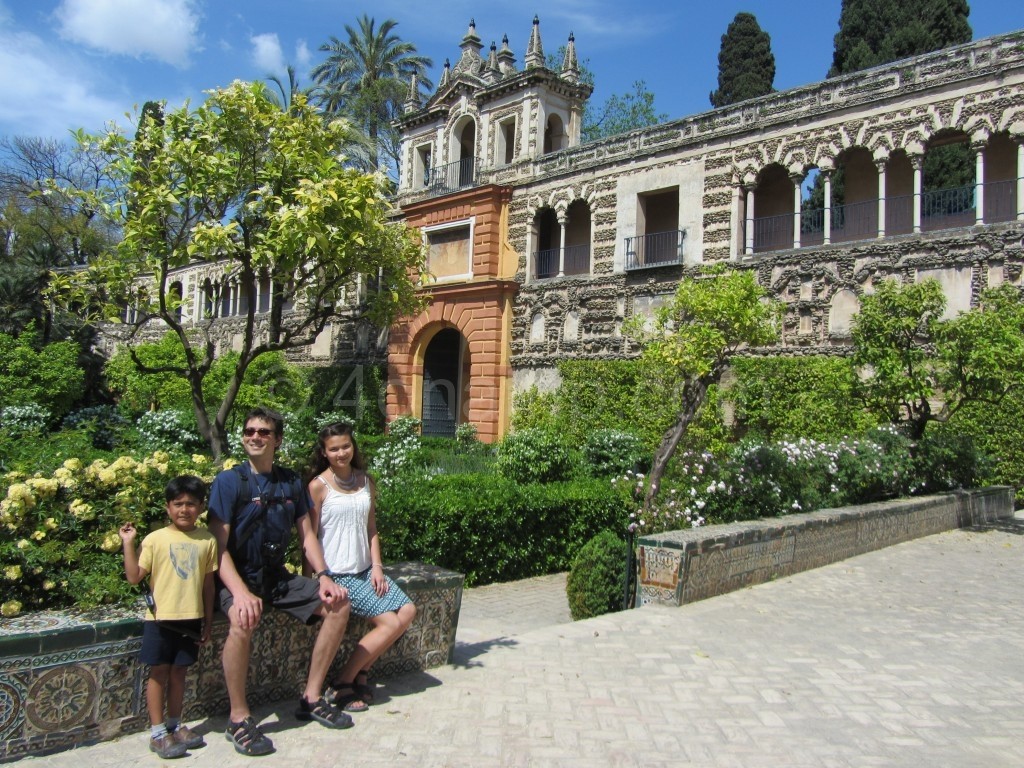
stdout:
[[(210, 640), (213, 622), (213, 571), (217, 541), (196, 520), (206, 503), (206, 483), (180, 475), (164, 492), (171, 524), (142, 540), (135, 552), (135, 526), (119, 530), (124, 545), (125, 575), (138, 584), (151, 575), (153, 601), (145, 613), (139, 660), (150, 665), (145, 702), (150, 710), (150, 750), (162, 758), (180, 758), (204, 746), (203, 736), (181, 724), (185, 672), (196, 663), (199, 646)], [(164, 702), (167, 720), (164, 722)]]

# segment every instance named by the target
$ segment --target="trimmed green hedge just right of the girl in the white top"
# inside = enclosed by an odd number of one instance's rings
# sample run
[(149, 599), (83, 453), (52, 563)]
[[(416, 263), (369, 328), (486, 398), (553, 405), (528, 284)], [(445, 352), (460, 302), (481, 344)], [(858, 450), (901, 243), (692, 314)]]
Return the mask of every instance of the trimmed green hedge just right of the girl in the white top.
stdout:
[(438, 475), (381, 486), (377, 524), (386, 559), (422, 560), (480, 585), (567, 570), (584, 544), (628, 517), (605, 479)]

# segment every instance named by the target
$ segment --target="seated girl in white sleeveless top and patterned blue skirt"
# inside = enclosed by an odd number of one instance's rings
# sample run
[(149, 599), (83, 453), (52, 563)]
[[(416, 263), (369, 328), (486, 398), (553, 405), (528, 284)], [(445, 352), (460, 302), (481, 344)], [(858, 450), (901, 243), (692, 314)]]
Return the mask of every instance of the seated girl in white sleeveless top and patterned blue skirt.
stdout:
[(352, 613), (372, 629), (355, 646), (329, 692), (348, 712), (373, 702), (371, 666), (401, 637), (416, 606), (385, 573), (374, 508), (374, 482), (349, 424), (324, 427), (316, 436), (309, 496), (309, 519), (324, 547), (331, 577), (348, 590)]

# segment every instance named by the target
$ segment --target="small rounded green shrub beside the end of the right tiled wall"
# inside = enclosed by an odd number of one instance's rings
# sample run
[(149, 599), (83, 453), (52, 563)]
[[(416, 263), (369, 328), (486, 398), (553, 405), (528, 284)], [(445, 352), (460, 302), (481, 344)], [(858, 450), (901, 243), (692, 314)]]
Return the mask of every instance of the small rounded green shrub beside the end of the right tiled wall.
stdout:
[(577, 553), (565, 583), (573, 622), (622, 608), (628, 546), (612, 531), (602, 530)]

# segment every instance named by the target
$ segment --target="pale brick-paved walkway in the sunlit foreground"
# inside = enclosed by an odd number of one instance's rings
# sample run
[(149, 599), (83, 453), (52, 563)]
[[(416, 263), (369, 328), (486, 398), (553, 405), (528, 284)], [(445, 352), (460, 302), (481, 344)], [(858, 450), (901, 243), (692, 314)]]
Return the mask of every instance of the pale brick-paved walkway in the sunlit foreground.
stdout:
[[(956, 530), (682, 608), (567, 620), (564, 577), (467, 591), (457, 664), (355, 727), (259, 714), (268, 765), (1024, 765), (1024, 522)], [(209, 745), (177, 765), (251, 766)], [(159, 762), (142, 734), (33, 766)], [(258, 762), (258, 761), (257, 761)]]

